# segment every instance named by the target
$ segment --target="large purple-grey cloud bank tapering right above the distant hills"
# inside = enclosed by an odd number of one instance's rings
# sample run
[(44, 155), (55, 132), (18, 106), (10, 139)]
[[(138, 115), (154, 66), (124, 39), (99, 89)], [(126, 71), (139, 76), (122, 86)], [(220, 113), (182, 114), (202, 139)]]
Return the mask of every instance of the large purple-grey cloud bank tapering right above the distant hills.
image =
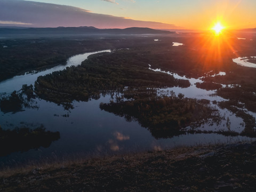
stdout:
[[(114, 0), (111, 1), (115, 2)], [(91, 13), (88, 10), (73, 6), (20, 0), (0, 0), (0, 18), (4, 22), (8, 21), (11, 25), (25, 27), (178, 28), (175, 25), (161, 22), (138, 21), (113, 15)], [(0, 23), (0, 25), (7, 24)]]

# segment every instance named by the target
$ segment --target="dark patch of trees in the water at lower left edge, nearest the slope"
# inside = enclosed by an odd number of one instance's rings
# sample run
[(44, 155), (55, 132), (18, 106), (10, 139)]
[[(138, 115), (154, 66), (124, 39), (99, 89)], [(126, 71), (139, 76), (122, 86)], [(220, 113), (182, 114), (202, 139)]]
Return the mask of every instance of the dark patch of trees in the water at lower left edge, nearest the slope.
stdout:
[(16, 151), (27, 151), (39, 147), (49, 147), (52, 141), (60, 139), (59, 132), (45, 131), (43, 125), (34, 130), (28, 127), (16, 127), (14, 130), (3, 130), (0, 126), (0, 156)]

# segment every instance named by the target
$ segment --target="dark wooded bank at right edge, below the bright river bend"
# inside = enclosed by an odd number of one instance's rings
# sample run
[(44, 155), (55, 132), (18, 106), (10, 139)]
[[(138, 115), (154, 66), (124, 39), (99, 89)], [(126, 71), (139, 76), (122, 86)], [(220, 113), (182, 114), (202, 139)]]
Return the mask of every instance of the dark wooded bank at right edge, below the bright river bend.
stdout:
[[(236, 65), (234, 63), (234, 65)], [(243, 118), (245, 129), (241, 135), (255, 137), (255, 117), (248, 114), (247, 110), (256, 112), (256, 70), (253, 68), (235, 66), (226, 76), (205, 77), (204, 81), (221, 84), (234, 84), (217, 90), (217, 95), (228, 101), (219, 102), (221, 108), (227, 108), (236, 116)]]

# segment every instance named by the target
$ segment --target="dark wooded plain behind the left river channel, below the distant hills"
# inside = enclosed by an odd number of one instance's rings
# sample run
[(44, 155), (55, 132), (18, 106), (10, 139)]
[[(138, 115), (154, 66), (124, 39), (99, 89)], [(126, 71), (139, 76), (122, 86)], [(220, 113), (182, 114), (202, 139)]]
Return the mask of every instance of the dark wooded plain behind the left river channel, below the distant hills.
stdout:
[(150, 38), (39, 38), (0, 41), (0, 81), (60, 64), (75, 54), (154, 43)]

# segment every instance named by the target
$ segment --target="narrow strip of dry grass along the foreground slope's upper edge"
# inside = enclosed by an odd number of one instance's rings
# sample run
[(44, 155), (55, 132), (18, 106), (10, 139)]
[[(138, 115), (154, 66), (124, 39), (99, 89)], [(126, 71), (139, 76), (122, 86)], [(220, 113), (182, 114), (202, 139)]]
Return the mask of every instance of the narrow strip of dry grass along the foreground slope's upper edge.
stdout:
[(100, 156), (99, 154), (90, 155), (89, 157), (79, 157), (76, 155), (75, 158), (66, 158), (66, 159), (53, 159), (52, 161), (39, 161), (39, 162), (30, 162), (29, 164), (14, 166), (14, 167), (3, 167), (0, 170), (0, 178), (10, 177), (15, 174), (28, 174), (35, 169), (41, 171), (49, 169), (60, 169), (61, 167), (69, 167), (73, 165), (82, 165), (82, 164), (104, 164), (111, 161), (116, 161), (116, 159), (126, 159), (126, 161), (135, 161), (140, 158), (150, 158), (156, 154), (167, 155), (168, 158), (173, 159), (174, 161), (182, 160), (184, 158), (196, 156), (202, 153), (207, 153), (207, 151), (219, 145), (197, 145), (193, 147), (188, 146), (177, 146), (170, 150), (161, 150), (156, 148), (153, 151), (147, 151), (143, 153), (128, 153), (125, 155), (105, 155)]

